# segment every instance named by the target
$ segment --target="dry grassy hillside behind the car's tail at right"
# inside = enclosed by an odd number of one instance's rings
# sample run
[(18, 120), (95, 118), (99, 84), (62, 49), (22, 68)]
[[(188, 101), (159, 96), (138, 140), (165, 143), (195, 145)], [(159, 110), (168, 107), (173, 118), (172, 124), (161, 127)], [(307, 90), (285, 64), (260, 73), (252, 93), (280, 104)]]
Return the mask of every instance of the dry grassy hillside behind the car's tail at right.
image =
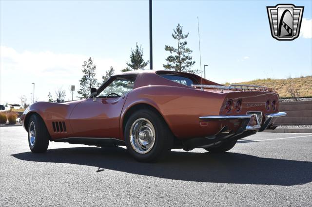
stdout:
[[(288, 92), (289, 88), (300, 92), (300, 96), (312, 96), (312, 76), (300, 77), (300, 78), (287, 78), (287, 79), (257, 79), (254, 81), (247, 81), (241, 83), (232, 83), (232, 84), (247, 84), (247, 85), (256, 85), (256, 86), (267, 86), (274, 88), (280, 97), (291, 97), (291, 94)], [(225, 83), (226, 86), (229, 86), (230, 83)]]

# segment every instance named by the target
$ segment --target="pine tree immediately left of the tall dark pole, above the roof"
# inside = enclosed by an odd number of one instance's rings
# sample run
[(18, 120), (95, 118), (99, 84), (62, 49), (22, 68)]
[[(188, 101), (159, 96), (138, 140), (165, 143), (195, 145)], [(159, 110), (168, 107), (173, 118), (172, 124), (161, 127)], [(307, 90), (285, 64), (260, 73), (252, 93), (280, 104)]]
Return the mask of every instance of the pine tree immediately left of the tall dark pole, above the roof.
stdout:
[[(131, 68), (130, 70), (144, 69), (149, 63), (149, 60), (144, 62), (143, 49), (141, 45), (140, 47), (136, 45), (136, 50), (131, 48), (130, 63), (127, 62), (127, 66)], [(126, 69), (128, 69), (128, 67)]]

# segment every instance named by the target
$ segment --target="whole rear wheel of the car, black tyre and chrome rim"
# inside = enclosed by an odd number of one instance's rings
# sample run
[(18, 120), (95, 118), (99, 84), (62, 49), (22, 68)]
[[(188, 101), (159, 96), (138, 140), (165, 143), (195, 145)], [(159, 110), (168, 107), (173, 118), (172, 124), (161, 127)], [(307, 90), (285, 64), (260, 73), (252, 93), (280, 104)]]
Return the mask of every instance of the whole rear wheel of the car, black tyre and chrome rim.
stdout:
[(140, 162), (164, 158), (173, 145), (173, 135), (166, 122), (153, 110), (133, 113), (124, 130), (128, 152)]

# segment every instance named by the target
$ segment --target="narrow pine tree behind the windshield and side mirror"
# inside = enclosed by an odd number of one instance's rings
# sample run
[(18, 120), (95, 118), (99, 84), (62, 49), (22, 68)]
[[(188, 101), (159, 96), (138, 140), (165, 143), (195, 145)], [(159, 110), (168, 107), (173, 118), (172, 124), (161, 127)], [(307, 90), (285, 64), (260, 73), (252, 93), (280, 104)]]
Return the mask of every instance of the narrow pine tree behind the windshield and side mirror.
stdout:
[(95, 71), (96, 69), (97, 66), (93, 65), (91, 57), (89, 58), (88, 62), (87, 61), (83, 62), (81, 71), (83, 72), (84, 75), (79, 80), (80, 89), (78, 90), (78, 94), (81, 95), (83, 98), (88, 98), (88, 96), (90, 95), (91, 88), (97, 86), (96, 71)]

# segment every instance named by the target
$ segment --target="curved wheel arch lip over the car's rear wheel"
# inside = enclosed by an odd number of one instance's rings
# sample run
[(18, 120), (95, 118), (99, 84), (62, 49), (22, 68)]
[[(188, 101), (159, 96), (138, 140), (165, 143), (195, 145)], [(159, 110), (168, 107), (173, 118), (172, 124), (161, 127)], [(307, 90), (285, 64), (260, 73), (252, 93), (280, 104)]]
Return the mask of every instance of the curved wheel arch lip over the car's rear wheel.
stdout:
[[(126, 126), (126, 123), (128, 121), (128, 119), (130, 118), (131, 114), (137, 110), (140, 110), (140, 109), (149, 109), (149, 110), (152, 110), (154, 111), (156, 114), (158, 114), (162, 119), (163, 121), (166, 123), (166, 125), (168, 126), (168, 129), (171, 131), (170, 129), (170, 126), (168, 124), (168, 122), (166, 121), (166, 119), (163, 117), (163, 115), (159, 112), (159, 110), (156, 109), (156, 107), (152, 106), (151, 104), (146, 104), (146, 103), (137, 103), (137, 104), (134, 104), (132, 105), (130, 108), (127, 109), (127, 111), (124, 113), (124, 116), (122, 117), (122, 125), (120, 127), (120, 130), (121, 130), (121, 137), (124, 139), (124, 129), (125, 129), (125, 126)], [(172, 131), (171, 131), (172, 133)]]

